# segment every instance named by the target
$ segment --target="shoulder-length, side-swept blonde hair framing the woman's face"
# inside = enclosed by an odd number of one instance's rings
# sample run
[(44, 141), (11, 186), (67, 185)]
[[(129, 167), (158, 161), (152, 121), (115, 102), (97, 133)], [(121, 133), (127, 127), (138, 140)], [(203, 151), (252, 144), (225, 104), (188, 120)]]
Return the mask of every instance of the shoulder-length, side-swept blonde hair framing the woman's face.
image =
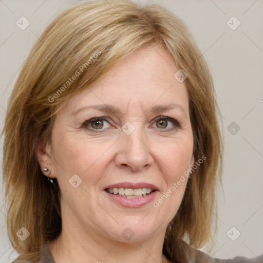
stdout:
[[(30, 255), (61, 233), (59, 185), (57, 180), (48, 182), (35, 156), (37, 143), (50, 139), (58, 107), (105, 77), (128, 54), (153, 42), (166, 47), (177, 67), (187, 73), (194, 157), (206, 157), (193, 172), (166, 230), (163, 253), (181, 260), (185, 237), (194, 248), (211, 240), (213, 222), (217, 226), (215, 190), (221, 183), (222, 144), (208, 66), (189, 30), (165, 8), (99, 0), (74, 6), (55, 18), (30, 51), (10, 97), (2, 132), (3, 181), (8, 235), (21, 258), (29, 255), (36, 261)], [(65, 85), (77, 71), (81, 76)], [(24, 241), (16, 236), (21, 227), (30, 233)]]

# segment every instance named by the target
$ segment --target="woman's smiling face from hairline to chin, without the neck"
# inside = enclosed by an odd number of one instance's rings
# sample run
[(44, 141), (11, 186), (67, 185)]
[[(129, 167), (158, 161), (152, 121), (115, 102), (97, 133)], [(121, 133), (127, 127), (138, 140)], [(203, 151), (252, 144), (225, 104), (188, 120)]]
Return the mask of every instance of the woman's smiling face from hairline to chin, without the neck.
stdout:
[(147, 46), (60, 109), (46, 149), (64, 227), (125, 242), (164, 235), (194, 163), (177, 70), (163, 47)]

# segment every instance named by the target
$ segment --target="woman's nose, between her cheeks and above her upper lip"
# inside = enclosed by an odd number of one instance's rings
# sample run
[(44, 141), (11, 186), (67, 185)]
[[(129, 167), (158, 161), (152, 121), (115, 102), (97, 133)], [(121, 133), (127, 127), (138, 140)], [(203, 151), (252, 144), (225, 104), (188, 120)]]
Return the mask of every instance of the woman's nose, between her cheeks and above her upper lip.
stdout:
[(132, 171), (142, 171), (152, 166), (154, 158), (147, 136), (138, 127), (130, 135), (121, 134), (118, 140), (116, 165)]

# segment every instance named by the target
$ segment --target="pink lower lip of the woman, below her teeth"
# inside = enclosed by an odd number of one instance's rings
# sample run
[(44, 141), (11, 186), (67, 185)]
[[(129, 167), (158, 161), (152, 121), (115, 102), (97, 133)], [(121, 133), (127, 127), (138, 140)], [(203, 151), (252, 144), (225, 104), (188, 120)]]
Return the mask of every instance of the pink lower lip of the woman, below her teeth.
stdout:
[(155, 196), (157, 195), (158, 191), (155, 190), (153, 193), (147, 194), (146, 196), (140, 198), (125, 198), (125, 197), (121, 197), (120, 195), (110, 194), (107, 191), (104, 192), (108, 195), (109, 198), (111, 198), (112, 201), (126, 208), (140, 208), (152, 202)]

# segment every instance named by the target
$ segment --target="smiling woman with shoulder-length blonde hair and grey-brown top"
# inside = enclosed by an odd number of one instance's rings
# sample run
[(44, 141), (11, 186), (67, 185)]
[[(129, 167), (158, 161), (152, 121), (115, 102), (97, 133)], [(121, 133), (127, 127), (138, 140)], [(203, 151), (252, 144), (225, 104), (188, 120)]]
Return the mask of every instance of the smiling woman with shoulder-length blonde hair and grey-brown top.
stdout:
[(167, 10), (94, 1), (56, 18), (3, 130), (15, 262), (229, 262), (198, 250), (221, 182), (216, 111), (209, 69)]

